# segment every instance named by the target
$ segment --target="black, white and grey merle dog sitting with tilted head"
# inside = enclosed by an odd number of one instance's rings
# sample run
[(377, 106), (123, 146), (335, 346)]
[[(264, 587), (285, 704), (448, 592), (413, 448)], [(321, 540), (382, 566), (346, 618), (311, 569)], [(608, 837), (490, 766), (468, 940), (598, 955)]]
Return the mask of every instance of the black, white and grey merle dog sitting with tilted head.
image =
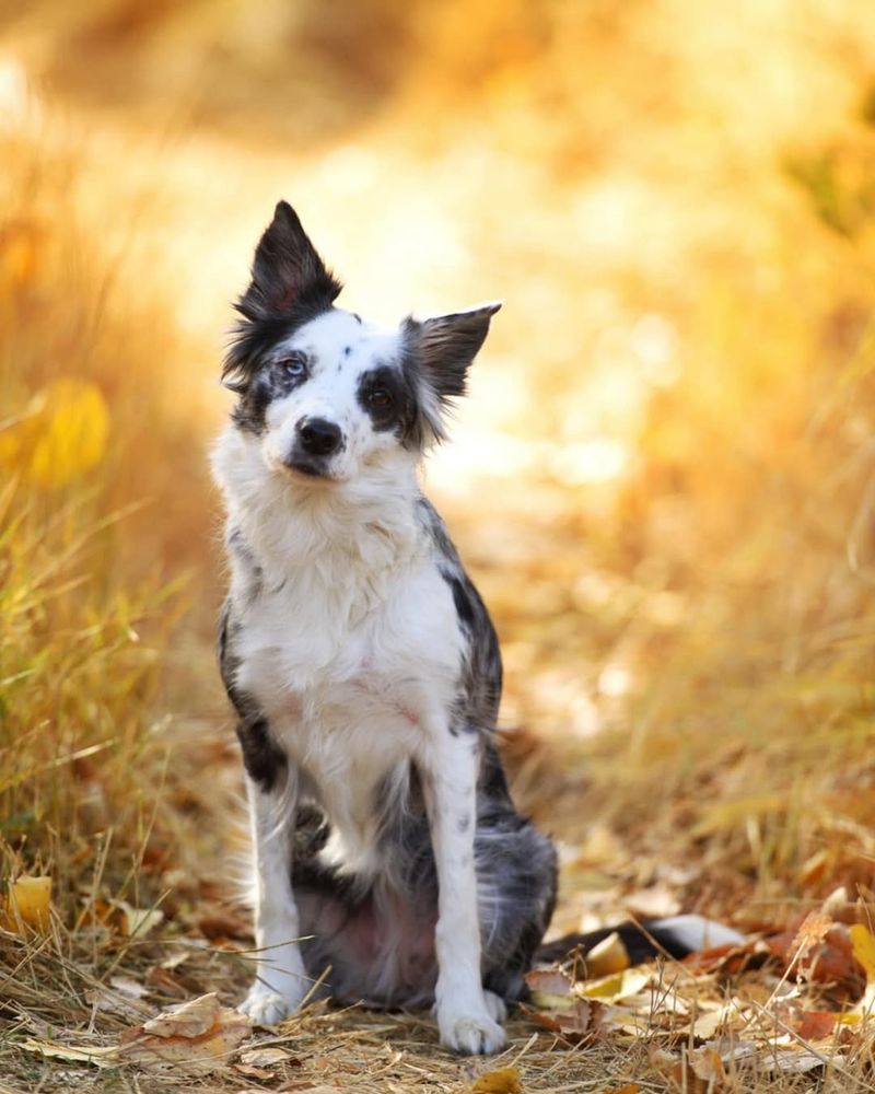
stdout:
[(433, 1004), (444, 1046), (494, 1052), (557, 854), (511, 798), (495, 631), (418, 470), (500, 305), (378, 329), (340, 290), (280, 201), (236, 304), (212, 457), (261, 954), (241, 1009), (271, 1025), (316, 989)]

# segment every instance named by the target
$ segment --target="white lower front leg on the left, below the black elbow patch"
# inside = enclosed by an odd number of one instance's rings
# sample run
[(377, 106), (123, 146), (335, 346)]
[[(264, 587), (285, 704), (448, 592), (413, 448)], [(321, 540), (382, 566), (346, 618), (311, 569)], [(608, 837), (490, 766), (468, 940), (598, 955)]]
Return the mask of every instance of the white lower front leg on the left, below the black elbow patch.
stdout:
[(298, 907), (292, 892), (295, 781), (264, 789), (246, 779), (249, 799), (258, 973), (241, 1011), (258, 1025), (273, 1025), (292, 1013), (310, 987), (301, 951)]

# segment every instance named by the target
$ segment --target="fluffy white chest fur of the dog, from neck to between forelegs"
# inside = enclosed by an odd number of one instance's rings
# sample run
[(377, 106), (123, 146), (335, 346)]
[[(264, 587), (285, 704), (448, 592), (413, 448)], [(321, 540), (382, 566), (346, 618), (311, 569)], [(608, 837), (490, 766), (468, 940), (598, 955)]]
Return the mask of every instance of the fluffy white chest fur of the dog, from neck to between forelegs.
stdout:
[(360, 870), (377, 795), (446, 732), (464, 656), (416, 481), (346, 499), (223, 486), (246, 544), (232, 554), (236, 686), (328, 815), (336, 854)]

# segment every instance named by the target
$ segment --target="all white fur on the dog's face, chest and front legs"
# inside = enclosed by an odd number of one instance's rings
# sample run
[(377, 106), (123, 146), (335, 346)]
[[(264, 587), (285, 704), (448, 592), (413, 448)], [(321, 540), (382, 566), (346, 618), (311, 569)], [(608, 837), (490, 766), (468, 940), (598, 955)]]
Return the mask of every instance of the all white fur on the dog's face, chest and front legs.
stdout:
[[(231, 597), (243, 625), (235, 683), (266, 715), (292, 772), (271, 794), (249, 785), (262, 964), (244, 1010), (272, 1023), (307, 990), (290, 944), (299, 920), (284, 818), (293, 816), (298, 772), (306, 772), (307, 791), (331, 822), (335, 861), (376, 874), (390, 863), (375, 858), (374, 795), (387, 775), (415, 760), (427, 777), (440, 883), (441, 1039), (456, 1050), (494, 1051), (504, 1033), (502, 1006), (480, 979), (477, 741), (450, 732), (463, 635), (417, 521), (417, 459), (393, 434), (371, 428), (355, 397), (357, 377), (395, 350), (397, 337), (342, 312), (306, 324), (285, 348), (307, 352), (312, 379), (270, 406), (262, 435), (229, 428), (214, 450), (230, 526), (242, 531), (261, 569), (253, 598), (250, 573), (232, 555)], [(330, 481), (284, 464), (304, 416), (343, 430)]]

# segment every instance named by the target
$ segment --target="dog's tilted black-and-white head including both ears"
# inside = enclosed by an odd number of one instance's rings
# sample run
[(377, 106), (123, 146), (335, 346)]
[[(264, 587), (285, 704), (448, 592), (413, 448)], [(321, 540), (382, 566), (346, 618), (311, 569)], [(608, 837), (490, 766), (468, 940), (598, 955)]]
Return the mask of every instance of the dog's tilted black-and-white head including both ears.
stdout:
[(416, 457), (445, 412), (500, 304), (383, 330), (334, 306), (340, 282), (280, 201), (258, 244), (223, 379), (233, 420), (267, 466), (300, 481), (346, 481)]

